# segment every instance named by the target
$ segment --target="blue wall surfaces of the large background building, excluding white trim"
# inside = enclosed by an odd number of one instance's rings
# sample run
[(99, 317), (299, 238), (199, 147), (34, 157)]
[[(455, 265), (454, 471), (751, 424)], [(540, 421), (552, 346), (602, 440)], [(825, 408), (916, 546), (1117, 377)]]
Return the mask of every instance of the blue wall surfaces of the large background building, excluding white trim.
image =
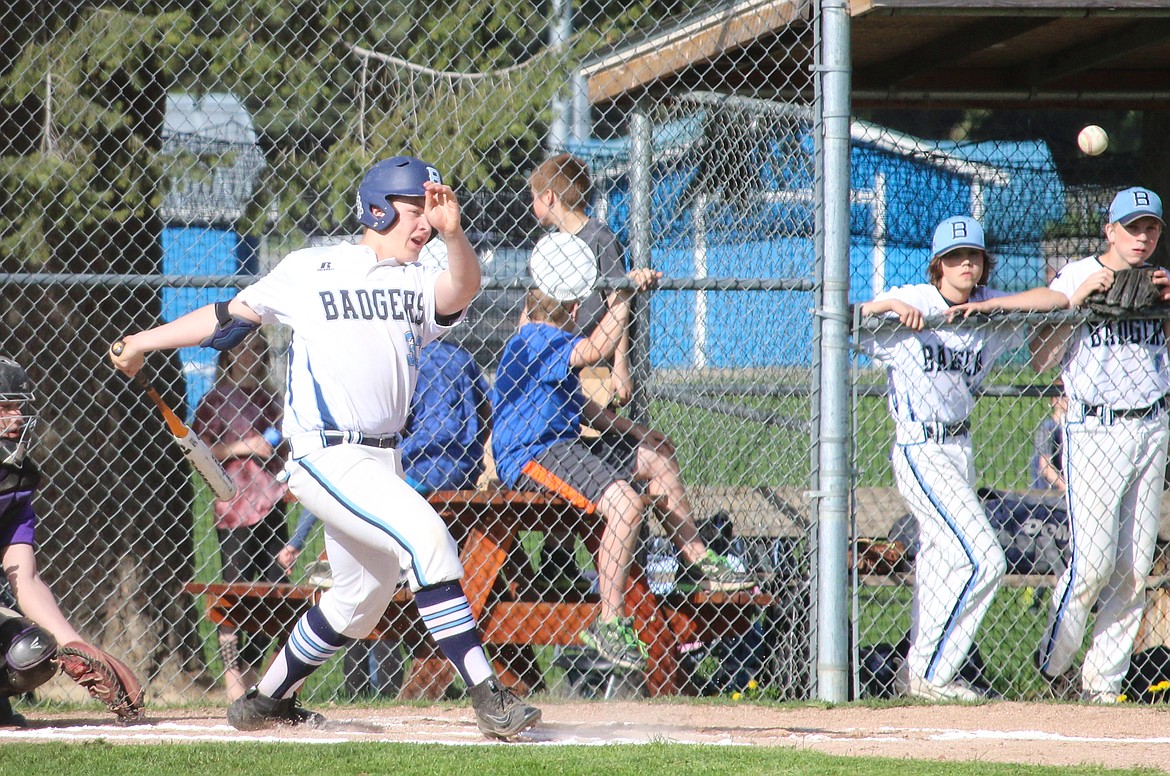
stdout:
[[(694, 195), (704, 165), (713, 164), (711, 145), (703, 132), (704, 117), (655, 128), (655, 158), (663, 150), (666, 162), (653, 169), (651, 233), (652, 261), (668, 277), (691, 277), (694, 267)], [(687, 150), (690, 144), (690, 150)], [(1006, 185), (983, 184), (984, 227), (997, 267), (992, 284), (1019, 290), (1044, 282), (1040, 239), (1045, 227), (1064, 218), (1064, 184), (1052, 154), (1041, 142), (979, 144), (932, 143), (930, 147), (955, 162), (969, 162), (998, 170)], [(679, 153), (679, 149), (684, 149)], [(628, 154), (628, 140), (591, 140), (571, 149), (594, 169)], [(937, 156), (937, 154), (936, 154)], [(812, 186), (812, 138), (777, 138), (750, 153), (743, 169), (755, 176), (735, 181), (729, 190), (796, 192)], [(925, 280), (934, 227), (950, 215), (969, 214), (972, 201), (970, 177), (930, 163), (924, 154), (910, 154), (854, 143), (851, 151), (853, 190), (874, 187), (875, 177), (886, 177), (886, 288)], [(603, 183), (610, 227), (622, 243), (629, 242), (628, 180), (620, 177)], [(796, 277), (813, 280), (814, 213), (811, 202), (720, 202), (709, 207), (707, 224), (708, 277)], [(873, 208), (863, 202), (851, 206), (849, 273), (852, 302), (872, 297)], [(784, 366), (811, 362), (812, 295), (808, 293), (707, 291), (707, 365)], [(652, 362), (658, 368), (693, 365), (695, 345), (694, 291), (660, 291), (651, 304)]]

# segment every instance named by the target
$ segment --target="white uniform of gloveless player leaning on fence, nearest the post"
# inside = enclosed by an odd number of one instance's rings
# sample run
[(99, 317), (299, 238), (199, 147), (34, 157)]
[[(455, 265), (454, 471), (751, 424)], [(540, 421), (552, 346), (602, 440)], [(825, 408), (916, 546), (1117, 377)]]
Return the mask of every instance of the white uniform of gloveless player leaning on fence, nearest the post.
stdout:
[[(972, 302), (1002, 291), (976, 288)], [(929, 283), (886, 291), (925, 316), (949, 303)], [(1007, 562), (975, 490), (968, 418), (996, 358), (1023, 343), (1019, 325), (897, 329), (861, 345), (886, 365), (895, 423), (892, 454), (899, 492), (918, 523), (909, 669), (935, 685), (955, 679)]]

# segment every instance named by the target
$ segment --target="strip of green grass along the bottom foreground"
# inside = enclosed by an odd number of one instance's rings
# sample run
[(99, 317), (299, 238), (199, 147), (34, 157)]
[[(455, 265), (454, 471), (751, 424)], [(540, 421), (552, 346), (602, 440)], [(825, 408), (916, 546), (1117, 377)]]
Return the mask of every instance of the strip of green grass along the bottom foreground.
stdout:
[[(310, 767), (305, 767), (311, 763)], [(452, 747), (400, 743), (192, 743), (124, 746), (96, 743), (6, 743), (0, 772), (163, 776), (353, 776), (355, 774), (443, 774), (445, 776), (543, 776), (544, 774), (819, 774), (820, 776), (1087, 776), (1154, 774), (1149, 769), (1038, 767), (1012, 763), (944, 763), (925, 760), (841, 757), (764, 747), (613, 744), (606, 747)]]

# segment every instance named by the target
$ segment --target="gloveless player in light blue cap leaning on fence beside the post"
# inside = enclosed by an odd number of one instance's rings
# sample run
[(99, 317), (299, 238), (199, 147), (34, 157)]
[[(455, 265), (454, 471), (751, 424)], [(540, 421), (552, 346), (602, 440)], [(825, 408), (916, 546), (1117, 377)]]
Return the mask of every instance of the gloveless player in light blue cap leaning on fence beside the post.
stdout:
[[(954, 316), (1006, 296), (986, 288), (992, 260), (975, 219), (940, 224), (931, 256), (929, 283), (892, 289), (861, 307), (862, 315), (894, 314), (907, 328), (863, 336), (860, 344), (887, 368), (894, 476), (920, 533), (908, 674), (900, 689), (935, 700), (979, 700), (958, 671), (1006, 559), (975, 490), (969, 417), (996, 358), (1024, 338), (1018, 327), (923, 330), (925, 316)], [(1035, 308), (1064, 304), (1046, 289), (1025, 301)]]

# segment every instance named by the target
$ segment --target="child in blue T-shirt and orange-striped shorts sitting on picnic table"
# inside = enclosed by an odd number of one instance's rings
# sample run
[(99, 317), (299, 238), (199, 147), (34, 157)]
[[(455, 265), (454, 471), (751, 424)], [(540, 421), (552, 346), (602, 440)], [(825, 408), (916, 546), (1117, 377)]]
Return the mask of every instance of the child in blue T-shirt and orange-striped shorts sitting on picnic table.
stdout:
[[(613, 291), (601, 323), (587, 337), (572, 334), (578, 301), (592, 290), (597, 266), (587, 249), (574, 246), (573, 235), (564, 236), (570, 239), (542, 241), (544, 252), (534, 252), (537, 288), (528, 294), (528, 323), (504, 345), (496, 372), (491, 449), (508, 487), (552, 492), (605, 520), (597, 555), (600, 611), (579, 638), (614, 666), (641, 669), (647, 648), (625, 617), (625, 597), (651, 500), (682, 556), (681, 589), (739, 590), (752, 583), (698, 538), (670, 441), (583, 396), (578, 370), (613, 353), (632, 293)], [(628, 277), (646, 290), (659, 275), (635, 269)], [(603, 435), (583, 438), (583, 423)], [(634, 482), (645, 483), (647, 495)]]

